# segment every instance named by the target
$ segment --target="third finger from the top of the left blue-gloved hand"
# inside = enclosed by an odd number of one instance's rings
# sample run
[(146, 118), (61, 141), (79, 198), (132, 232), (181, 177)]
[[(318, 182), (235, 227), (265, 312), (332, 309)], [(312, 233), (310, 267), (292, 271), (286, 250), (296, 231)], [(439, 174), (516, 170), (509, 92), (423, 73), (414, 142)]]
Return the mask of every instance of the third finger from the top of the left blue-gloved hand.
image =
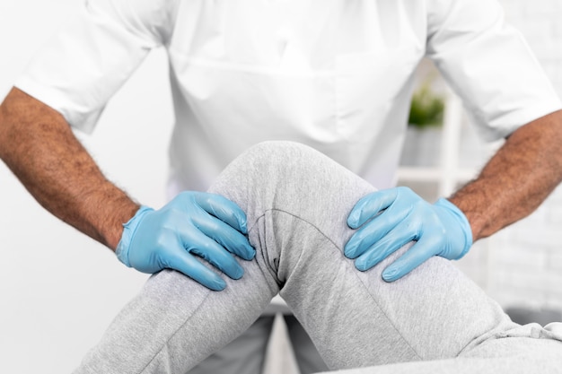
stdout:
[(195, 232), (190, 232), (189, 238), (184, 241), (184, 248), (188, 252), (204, 258), (209, 264), (214, 265), (232, 279), (240, 279), (244, 274), (244, 269), (238, 264), (233, 254), (203, 232), (193, 231)]

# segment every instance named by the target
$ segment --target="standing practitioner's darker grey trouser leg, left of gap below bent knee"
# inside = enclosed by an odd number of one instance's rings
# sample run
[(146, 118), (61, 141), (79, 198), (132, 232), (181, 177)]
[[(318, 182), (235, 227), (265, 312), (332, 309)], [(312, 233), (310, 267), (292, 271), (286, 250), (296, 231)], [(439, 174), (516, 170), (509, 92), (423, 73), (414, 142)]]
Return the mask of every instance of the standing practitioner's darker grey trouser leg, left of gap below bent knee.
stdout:
[(262, 316), (248, 330), (211, 354), (188, 374), (260, 374), (274, 316)]

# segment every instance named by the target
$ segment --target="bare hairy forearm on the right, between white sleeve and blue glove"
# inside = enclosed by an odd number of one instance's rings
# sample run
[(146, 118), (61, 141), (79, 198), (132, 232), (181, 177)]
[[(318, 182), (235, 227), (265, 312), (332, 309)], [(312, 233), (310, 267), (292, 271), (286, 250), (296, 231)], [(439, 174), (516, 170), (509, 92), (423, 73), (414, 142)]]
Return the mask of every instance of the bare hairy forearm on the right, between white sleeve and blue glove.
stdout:
[(562, 111), (522, 126), (479, 177), (451, 197), (485, 238), (533, 212), (562, 180)]

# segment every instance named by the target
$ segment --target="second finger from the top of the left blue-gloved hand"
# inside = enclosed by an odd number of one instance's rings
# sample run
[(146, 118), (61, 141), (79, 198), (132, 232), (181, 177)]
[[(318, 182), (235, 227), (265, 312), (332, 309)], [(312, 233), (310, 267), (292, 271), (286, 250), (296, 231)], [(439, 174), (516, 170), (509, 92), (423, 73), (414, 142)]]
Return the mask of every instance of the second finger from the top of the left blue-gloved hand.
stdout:
[(251, 247), (248, 239), (240, 231), (233, 229), (223, 221), (210, 215), (203, 215), (193, 217), (193, 222), (201, 232), (214, 239), (229, 252), (245, 260), (251, 260), (256, 256), (256, 250)]

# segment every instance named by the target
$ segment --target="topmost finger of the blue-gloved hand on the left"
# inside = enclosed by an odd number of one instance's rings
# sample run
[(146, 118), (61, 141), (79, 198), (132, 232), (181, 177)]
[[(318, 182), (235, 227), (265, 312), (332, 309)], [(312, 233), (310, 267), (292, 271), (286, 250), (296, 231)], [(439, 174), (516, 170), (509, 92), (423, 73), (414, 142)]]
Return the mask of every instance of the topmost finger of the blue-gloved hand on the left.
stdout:
[(199, 193), (196, 195), (196, 201), (207, 213), (213, 214), (243, 234), (248, 233), (246, 213), (231, 200), (220, 195)]

